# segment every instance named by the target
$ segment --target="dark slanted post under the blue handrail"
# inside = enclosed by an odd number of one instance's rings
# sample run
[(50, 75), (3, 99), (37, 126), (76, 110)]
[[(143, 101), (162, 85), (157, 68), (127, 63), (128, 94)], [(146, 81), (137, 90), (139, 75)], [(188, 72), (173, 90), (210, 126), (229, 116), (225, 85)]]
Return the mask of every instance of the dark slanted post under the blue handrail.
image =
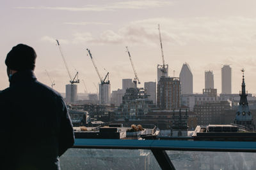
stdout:
[(151, 149), (151, 151), (152, 151), (154, 157), (156, 158), (161, 169), (175, 170), (175, 167), (173, 166), (172, 161), (170, 160), (170, 157), (167, 155), (165, 150)]

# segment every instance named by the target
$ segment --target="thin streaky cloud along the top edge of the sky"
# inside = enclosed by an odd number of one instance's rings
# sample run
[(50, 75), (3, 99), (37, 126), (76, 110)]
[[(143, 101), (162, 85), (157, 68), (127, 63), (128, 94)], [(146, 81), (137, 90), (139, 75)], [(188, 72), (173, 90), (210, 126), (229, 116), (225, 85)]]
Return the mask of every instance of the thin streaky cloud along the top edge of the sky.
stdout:
[(62, 11), (116, 11), (116, 10), (140, 10), (147, 8), (158, 8), (163, 6), (172, 6), (170, 1), (163, 0), (141, 0), (141, 1), (123, 1), (104, 5), (86, 5), (84, 7), (65, 7), (65, 6), (17, 6), (16, 9), (28, 10), (62, 10)]

